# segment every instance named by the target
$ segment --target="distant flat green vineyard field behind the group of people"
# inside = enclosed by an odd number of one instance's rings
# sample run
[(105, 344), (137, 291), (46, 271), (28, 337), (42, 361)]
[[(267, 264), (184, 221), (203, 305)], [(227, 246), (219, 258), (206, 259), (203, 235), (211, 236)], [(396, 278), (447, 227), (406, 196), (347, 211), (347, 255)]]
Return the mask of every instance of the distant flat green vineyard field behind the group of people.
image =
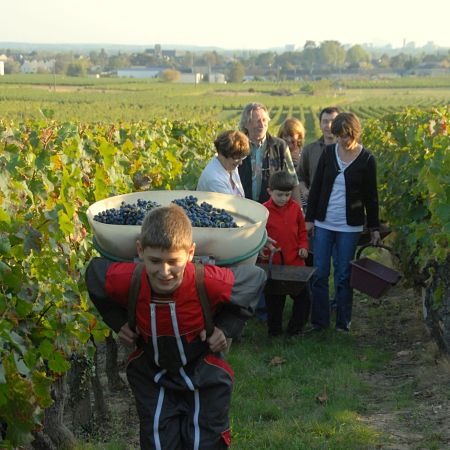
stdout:
[(273, 133), (290, 115), (303, 119), (308, 143), (320, 132), (317, 114), (325, 106), (352, 110), (364, 120), (404, 107), (450, 103), (450, 77), (413, 77), (402, 83), (349, 81), (340, 88), (330, 84), (315, 95), (302, 93), (301, 86), (301, 82), (195, 86), (145, 79), (5, 75), (0, 77), (0, 114), (13, 120), (39, 119), (40, 109), (52, 109), (57, 120), (115, 123), (165, 117), (237, 127), (243, 107), (257, 101), (270, 109)]

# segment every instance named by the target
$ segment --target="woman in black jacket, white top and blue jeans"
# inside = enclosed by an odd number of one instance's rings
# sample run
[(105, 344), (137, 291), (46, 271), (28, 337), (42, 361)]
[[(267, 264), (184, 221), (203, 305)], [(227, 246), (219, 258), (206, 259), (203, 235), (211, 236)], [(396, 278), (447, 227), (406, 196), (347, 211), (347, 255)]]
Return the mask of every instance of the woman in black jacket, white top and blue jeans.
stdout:
[(316, 330), (330, 325), (328, 279), (333, 246), (336, 258), (336, 329), (349, 331), (353, 292), (350, 261), (365, 222), (371, 242), (380, 243), (375, 158), (360, 143), (361, 123), (353, 113), (340, 113), (331, 125), (337, 143), (320, 157), (309, 192), (306, 226), (314, 232), (311, 323)]

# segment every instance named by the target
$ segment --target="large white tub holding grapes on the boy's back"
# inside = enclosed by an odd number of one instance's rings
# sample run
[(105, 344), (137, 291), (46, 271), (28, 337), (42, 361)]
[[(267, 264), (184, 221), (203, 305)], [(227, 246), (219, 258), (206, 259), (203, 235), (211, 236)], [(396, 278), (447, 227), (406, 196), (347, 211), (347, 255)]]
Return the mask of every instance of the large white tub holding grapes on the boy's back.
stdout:
[(214, 208), (225, 209), (238, 225), (237, 228), (193, 227), (195, 254), (212, 257), (217, 265), (222, 266), (256, 263), (267, 238), (267, 209), (253, 200), (217, 192), (143, 191), (100, 200), (87, 210), (87, 218), (94, 233), (94, 246), (100, 254), (112, 260), (134, 260), (137, 257), (136, 240), (140, 225), (106, 224), (94, 220), (94, 216), (106, 209), (118, 208), (122, 202), (134, 204), (142, 199), (166, 206), (172, 200), (189, 195), (197, 197), (198, 203), (207, 202)]

